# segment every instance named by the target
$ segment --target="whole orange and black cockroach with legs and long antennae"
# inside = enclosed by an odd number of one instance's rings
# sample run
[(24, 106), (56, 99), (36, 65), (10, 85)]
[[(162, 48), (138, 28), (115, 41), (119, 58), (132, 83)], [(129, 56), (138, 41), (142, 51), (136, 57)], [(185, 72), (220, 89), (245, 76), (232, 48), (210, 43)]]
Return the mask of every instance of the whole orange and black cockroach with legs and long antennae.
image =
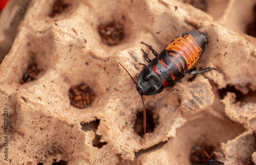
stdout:
[(170, 42), (159, 54), (157, 54), (152, 46), (144, 42), (141, 43), (148, 46), (156, 58), (151, 60), (147, 57), (148, 54), (141, 49), (144, 53), (145, 60), (149, 64), (145, 65), (140, 63), (140, 65), (144, 65), (145, 68), (140, 72), (138, 82), (133, 79), (122, 64), (119, 64), (130, 75), (134, 84), (136, 84), (137, 91), (141, 95), (146, 143), (146, 111), (143, 95), (155, 95), (162, 92), (164, 88), (175, 85), (175, 82), (183, 78), (186, 73), (197, 74), (207, 72), (211, 69), (215, 69), (220, 73), (221, 71), (216, 68), (205, 68), (200, 71), (191, 69), (202, 56), (208, 44), (208, 36), (202, 32), (191, 31), (183, 33)]

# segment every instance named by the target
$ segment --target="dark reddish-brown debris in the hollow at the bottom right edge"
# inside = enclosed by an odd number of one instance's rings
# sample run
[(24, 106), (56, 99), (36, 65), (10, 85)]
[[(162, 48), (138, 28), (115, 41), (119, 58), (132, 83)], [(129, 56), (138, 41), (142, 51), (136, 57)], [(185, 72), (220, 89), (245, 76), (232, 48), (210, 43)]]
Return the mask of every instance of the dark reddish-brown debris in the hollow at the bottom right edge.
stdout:
[(193, 165), (203, 165), (209, 160), (206, 153), (203, 151), (203, 148), (211, 159), (215, 159), (214, 146), (196, 145), (191, 149), (189, 157), (189, 160)]

